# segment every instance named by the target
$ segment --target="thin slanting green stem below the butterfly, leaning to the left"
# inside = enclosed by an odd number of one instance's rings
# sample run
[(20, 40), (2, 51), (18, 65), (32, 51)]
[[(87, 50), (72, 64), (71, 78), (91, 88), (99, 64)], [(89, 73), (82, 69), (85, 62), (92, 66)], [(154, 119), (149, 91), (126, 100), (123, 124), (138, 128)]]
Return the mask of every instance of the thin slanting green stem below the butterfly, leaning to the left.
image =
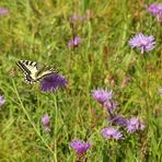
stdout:
[(20, 95), (19, 95), (18, 89), (16, 89), (15, 83), (14, 83), (13, 80), (12, 80), (12, 84), (13, 84), (15, 94), (16, 94), (16, 96), (18, 96), (18, 100), (19, 100), (19, 102), (20, 102), (20, 104), (21, 104), (21, 107), (22, 107), (24, 114), (26, 115), (27, 119), (30, 120), (31, 125), (33, 126), (34, 130), (36, 131), (36, 134), (38, 135), (38, 137), (40, 138), (40, 140), (42, 140), (42, 141), (44, 142), (44, 144), (48, 148), (48, 150), (54, 154), (54, 151), (50, 149), (50, 147), (47, 144), (47, 142), (44, 140), (44, 138), (40, 136), (40, 134), (38, 132), (37, 128), (35, 127), (35, 124), (32, 121), (32, 119), (31, 119), (31, 117), (30, 117), (27, 111), (25, 109), (25, 107), (24, 107), (24, 105), (23, 105), (23, 103), (22, 103), (22, 100), (21, 100), (21, 97), (20, 97)]

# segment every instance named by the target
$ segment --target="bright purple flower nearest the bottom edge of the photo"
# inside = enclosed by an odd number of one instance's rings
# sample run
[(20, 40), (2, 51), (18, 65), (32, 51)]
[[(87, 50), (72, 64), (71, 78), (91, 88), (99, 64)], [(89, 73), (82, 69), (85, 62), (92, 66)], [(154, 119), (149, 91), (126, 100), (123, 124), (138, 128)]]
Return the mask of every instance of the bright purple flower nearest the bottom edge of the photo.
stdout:
[(91, 146), (92, 146), (92, 143), (83, 142), (81, 140), (73, 140), (70, 142), (70, 147), (72, 149), (74, 149), (77, 154), (79, 154), (79, 155), (84, 153)]

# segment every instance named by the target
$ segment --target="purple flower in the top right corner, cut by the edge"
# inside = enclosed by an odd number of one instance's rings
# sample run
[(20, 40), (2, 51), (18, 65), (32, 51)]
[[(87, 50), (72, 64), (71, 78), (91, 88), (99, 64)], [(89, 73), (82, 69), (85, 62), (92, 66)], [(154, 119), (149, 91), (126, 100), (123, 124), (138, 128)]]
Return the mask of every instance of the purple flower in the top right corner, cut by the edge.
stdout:
[(158, 16), (159, 19), (162, 19), (162, 4), (152, 3), (152, 4), (150, 4), (150, 7), (148, 8), (148, 11), (149, 11), (153, 16)]

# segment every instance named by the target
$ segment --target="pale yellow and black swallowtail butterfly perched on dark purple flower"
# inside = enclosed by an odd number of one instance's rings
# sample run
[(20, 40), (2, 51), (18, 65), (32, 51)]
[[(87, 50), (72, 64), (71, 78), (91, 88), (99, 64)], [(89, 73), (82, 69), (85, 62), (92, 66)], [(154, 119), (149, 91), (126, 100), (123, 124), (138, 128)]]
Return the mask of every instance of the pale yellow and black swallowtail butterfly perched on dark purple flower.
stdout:
[(25, 81), (30, 84), (40, 81), (44, 77), (57, 72), (56, 69), (36, 61), (20, 60), (16, 65), (24, 72)]

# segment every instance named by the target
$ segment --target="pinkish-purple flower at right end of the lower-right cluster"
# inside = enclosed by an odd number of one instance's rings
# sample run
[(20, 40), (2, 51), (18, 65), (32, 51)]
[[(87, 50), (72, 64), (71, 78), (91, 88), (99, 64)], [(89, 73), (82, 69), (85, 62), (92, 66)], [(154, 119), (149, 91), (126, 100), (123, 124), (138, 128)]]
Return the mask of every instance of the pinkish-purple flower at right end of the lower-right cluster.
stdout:
[(131, 117), (130, 119), (127, 119), (127, 131), (128, 132), (135, 132), (137, 130), (143, 130), (144, 129), (144, 125), (142, 124), (142, 121), (137, 118), (137, 117)]

